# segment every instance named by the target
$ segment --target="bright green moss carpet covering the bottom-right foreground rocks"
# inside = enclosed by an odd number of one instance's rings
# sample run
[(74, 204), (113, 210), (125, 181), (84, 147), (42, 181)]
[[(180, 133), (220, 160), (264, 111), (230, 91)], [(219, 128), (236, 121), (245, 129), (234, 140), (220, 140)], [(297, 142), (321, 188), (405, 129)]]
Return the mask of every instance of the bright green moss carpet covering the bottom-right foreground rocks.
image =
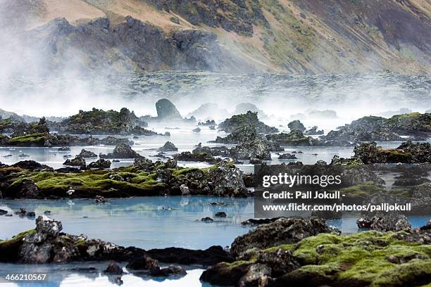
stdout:
[[(393, 232), (318, 234), (261, 252), (274, 252), (278, 248), (292, 250), (301, 263), (299, 269), (286, 275), (290, 278), (313, 279), (331, 286), (331, 282), (347, 281), (360, 282), (361, 286), (410, 286), (411, 282), (425, 284), (431, 278), (431, 245), (401, 241)], [(400, 258), (419, 255), (423, 259), (394, 264), (387, 260), (389, 255)], [(227, 266), (246, 263), (249, 262), (238, 261)]]

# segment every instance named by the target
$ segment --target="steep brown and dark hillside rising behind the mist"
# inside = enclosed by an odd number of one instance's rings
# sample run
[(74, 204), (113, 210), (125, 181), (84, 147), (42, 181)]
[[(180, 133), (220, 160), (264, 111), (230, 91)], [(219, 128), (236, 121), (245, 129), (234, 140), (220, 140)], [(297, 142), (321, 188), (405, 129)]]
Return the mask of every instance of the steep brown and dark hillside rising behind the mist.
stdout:
[[(430, 74), (427, 0), (1, 0), (13, 72)], [(17, 60), (17, 62), (19, 62)], [(41, 69), (40, 67), (44, 67)]]

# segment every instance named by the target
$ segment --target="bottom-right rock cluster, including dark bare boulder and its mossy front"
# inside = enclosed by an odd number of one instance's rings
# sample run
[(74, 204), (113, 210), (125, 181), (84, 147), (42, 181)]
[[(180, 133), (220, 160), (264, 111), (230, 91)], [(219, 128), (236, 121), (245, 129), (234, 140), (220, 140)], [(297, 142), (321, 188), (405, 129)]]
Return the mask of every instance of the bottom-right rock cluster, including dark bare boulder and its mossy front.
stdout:
[[(374, 281), (384, 282), (384, 286), (421, 286), (429, 282), (430, 259), (415, 250), (418, 244), (431, 243), (431, 222), (414, 230), (400, 227), (402, 231), (392, 234), (370, 231), (340, 236), (323, 219), (313, 217), (261, 221), (256, 229), (235, 238), (230, 253), (236, 261), (215, 264), (201, 275), (201, 281), (220, 286), (262, 287), (342, 286), (346, 282), (373, 286)], [(395, 255), (394, 248), (399, 250)], [(356, 257), (358, 250), (363, 253)], [(347, 264), (346, 254), (349, 268), (340, 268)], [(380, 263), (382, 256), (386, 264)], [(368, 268), (363, 266), (363, 260), (375, 265), (373, 272), (378, 276), (356, 275)], [(358, 273), (349, 272), (351, 268), (358, 269)]]

